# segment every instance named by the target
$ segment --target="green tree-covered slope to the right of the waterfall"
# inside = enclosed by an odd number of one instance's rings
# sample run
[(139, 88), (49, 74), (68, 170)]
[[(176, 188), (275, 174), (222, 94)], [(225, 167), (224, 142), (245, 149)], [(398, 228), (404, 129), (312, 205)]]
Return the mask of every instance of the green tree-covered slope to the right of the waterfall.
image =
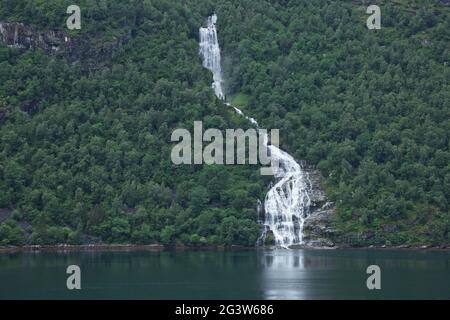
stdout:
[(339, 229), (450, 242), (450, 10), (380, 6), (369, 31), (354, 1), (217, 4), (228, 95), (324, 173)]

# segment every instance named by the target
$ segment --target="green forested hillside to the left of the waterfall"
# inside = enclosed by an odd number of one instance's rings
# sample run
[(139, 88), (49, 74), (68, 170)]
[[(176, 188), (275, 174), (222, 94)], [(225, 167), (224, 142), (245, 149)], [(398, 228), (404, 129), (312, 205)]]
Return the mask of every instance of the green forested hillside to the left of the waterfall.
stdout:
[[(67, 3), (1, 3), (0, 20), (64, 29)], [(0, 242), (254, 245), (268, 184), (258, 168), (170, 158), (175, 128), (247, 125), (210, 89), (198, 56), (203, 16), (175, 0), (79, 5), (81, 37), (133, 30), (97, 70), (0, 47)]]

